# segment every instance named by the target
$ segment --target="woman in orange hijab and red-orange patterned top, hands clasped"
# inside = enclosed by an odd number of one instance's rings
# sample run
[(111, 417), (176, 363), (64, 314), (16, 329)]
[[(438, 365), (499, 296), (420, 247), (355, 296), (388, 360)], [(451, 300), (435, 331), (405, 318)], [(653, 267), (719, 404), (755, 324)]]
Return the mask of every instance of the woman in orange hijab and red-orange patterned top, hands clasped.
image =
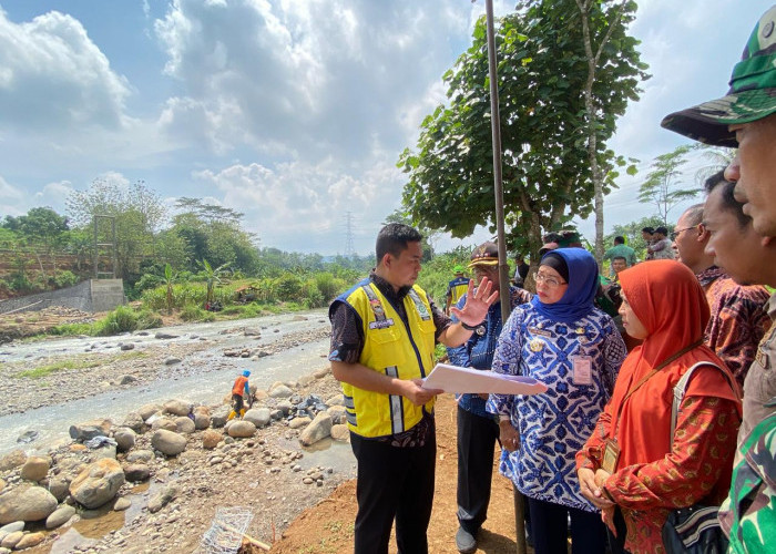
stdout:
[[(623, 326), (644, 342), (623, 362), (576, 470), (582, 494), (603, 511), (614, 554), (664, 553), (661, 530), (672, 510), (725, 497), (741, 402), (729, 370), (703, 345), (709, 310), (693, 273), (655, 260), (625, 269), (620, 281)], [(674, 386), (703, 361), (722, 371), (693, 373), (672, 445)]]

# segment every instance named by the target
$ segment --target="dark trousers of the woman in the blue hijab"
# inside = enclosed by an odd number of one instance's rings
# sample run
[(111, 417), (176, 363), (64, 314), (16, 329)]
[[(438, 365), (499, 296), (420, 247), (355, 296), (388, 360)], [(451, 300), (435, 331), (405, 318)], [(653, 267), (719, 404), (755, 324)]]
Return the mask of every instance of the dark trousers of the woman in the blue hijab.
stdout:
[(571, 516), (572, 554), (602, 554), (606, 548), (606, 526), (599, 512), (585, 512), (554, 502), (528, 499), (531, 535), (535, 554), (566, 552)]

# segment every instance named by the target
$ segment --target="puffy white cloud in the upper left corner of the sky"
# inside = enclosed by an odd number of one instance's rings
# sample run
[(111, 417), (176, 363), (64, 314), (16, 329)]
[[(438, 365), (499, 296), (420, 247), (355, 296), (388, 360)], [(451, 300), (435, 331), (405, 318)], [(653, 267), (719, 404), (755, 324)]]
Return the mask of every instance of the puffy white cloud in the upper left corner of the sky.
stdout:
[(126, 80), (83, 25), (51, 11), (27, 23), (0, 10), (0, 124), (18, 132), (121, 127)]

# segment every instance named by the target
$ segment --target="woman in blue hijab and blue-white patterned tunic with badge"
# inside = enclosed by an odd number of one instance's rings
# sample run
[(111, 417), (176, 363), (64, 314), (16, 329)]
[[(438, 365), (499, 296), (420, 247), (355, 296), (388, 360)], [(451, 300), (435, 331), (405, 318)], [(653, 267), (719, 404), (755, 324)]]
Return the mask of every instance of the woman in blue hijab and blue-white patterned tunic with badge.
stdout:
[(601, 514), (581, 493), (574, 454), (609, 401), (625, 343), (612, 318), (593, 305), (599, 267), (583, 248), (542, 257), (537, 295), (517, 307), (496, 347), (493, 371), (533, 377), (543, 394), (491, 394), (502, 445), (500, 471), (528, 499), (537, 554), (601, 553)]

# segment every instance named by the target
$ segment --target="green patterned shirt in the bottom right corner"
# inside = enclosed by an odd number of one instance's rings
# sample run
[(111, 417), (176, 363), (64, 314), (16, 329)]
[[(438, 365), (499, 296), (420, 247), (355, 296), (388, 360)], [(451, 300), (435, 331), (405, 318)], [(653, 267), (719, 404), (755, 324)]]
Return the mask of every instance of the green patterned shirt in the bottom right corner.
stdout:
[[(774, 552), (776, 540), (776, 413), (759, 422), (739, 447), (731, 492), (719, 507), (734, 554)], [(769, 544), (767, 542), (770, 541)]]

